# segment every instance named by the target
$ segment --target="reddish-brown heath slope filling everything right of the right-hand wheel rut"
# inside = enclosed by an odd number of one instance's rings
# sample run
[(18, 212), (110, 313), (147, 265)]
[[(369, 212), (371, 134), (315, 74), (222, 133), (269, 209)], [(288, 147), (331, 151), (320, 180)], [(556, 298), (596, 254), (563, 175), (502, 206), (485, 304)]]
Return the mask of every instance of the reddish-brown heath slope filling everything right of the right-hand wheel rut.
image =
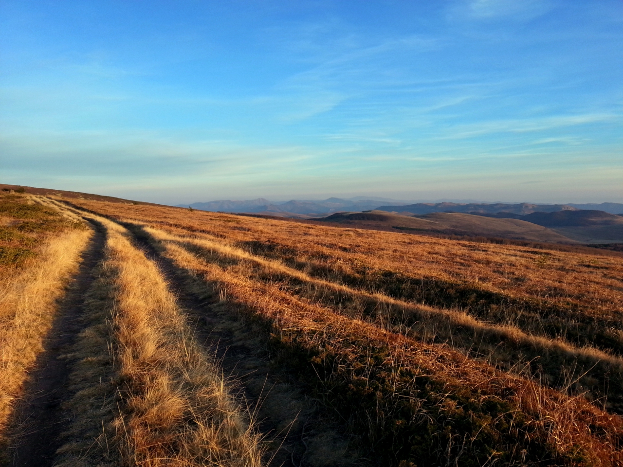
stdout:
[(617, 255), (79, 204), (264, 326), (379, 463), (623, 463)]

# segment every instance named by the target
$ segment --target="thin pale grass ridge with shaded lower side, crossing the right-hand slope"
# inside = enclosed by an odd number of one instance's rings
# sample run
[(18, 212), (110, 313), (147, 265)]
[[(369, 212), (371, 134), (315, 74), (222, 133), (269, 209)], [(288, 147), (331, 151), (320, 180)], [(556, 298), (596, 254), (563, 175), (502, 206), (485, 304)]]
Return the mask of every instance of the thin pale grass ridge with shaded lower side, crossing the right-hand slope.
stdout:
[[(590, 390), (593, 398), (606, 397), (611, 407), (623, 405), (623, 359), (619, 356), (594, 347), (576, 347), (562, 339), (533, 336), (512, 326), (483, 323), (461, 311), (414, 305), (382, 293), (367, 293), (313, 278), (276, 260), (252, 255), (232, 245), (193, 237), (167, 237), (168, 234), (150, 227), (145, 230), (158, 235), (160, 240), (176, 242), (189, 252), (198, 253), (222, 266), (231, 263), (232, 259), (250, 262), (260, 267), (259, 271), (253, 271), (252, 265), (244, 268), (245, 273), (255, 280), (279, 283), (282, 287), (289, 285), (290, 293), (331, 306), (348, 316), (366, 319), (393, 332), (424, 341), (451, 342), (467, 351), (488, 354), (491, 362), (501, 362), (503, 366), (540, 359), (541, 362), (534, 364), (533, 368), (526, 366), (523, 370), (536, 375), (545, 371), (553, 387), (567, 389), (573, 383), (576, 390)], [(327, 290), (334, 293), (327, 294)]]

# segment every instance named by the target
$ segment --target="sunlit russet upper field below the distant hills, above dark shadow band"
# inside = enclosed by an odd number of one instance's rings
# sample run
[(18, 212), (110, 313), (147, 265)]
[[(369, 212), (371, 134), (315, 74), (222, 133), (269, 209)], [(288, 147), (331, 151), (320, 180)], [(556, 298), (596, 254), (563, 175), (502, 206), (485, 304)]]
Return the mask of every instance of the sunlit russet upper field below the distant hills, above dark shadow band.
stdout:
[(171, 232), (226, 238), (227, 243), (299, 265), (313, 275), (324, 272), (334, 281), (346, 283), (349, 276), (363, 276), (373, 288), (381, 286), (375, 278), (392, 271), (424, 280), (425, 291), (431, 288), (433, 294), (442, 292), (444, 284), (469, 285), (526, 304), (546, 300), (599, 319), (617, 318), (623, 311), (623, 257), (598, 251), (588, 255), (536, 250), (168, 207), (84, 201), (80, 205)]

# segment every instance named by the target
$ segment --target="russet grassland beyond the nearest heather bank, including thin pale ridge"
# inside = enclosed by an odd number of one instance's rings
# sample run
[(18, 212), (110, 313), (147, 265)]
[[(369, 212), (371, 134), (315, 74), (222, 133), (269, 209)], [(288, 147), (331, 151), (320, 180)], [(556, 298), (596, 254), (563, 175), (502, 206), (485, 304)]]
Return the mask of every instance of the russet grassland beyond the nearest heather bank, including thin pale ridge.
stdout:
[[(407, 329), (427, 341), (447, 341), (503, 369), (528, 371), (552, 387), (567, 387), (571, 382), (571, 390), (623, 410), (623, 294), (617, 285), (623, 262), (619, 257), (170, 208), (123, 206), (119, 210), (115, 204), (93, 205), (172, 233), (193, 232), (199, 237), (196, 240), (209, 242), (209, 248), (234, 248), (238, 258), (245, 250), (254, 253), (254, 260), (276, 260), (270, 273), (257, 267), (248, 273), (290, 281), (293, 293), (321, 300), (350, 316), (387, 319), (388, 313), (393, 314), (394, 329)], [(432, 262), (430, 257), (439, 260)], [(479, 276), (473, 280), (475, 274)], [(495, 280), (478, 280), (485, 275)], [(530, 290), (551, 292), (553, 281), (558, 289), (552, 296), (526, 292), (526, 284)], [(492, 286), (495, 282), (499, 285)], [(591, 286), (595, 290), (585, 290)], [(327, 288), (332, 292), (327, 293)]]

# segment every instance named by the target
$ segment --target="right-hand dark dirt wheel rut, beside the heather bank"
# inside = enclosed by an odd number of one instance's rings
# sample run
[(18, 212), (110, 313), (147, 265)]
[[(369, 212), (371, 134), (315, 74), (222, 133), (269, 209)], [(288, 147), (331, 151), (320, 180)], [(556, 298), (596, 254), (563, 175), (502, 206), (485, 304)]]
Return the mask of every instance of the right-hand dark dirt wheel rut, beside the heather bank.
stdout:
[(156, 263), (194, 324), (197, 340), (216, 354), (239, 396), (255, 413), (256, 425), (267, 436), (267, 466), (368, 465), (341, 434), (330, 413), (297, 389), (287, 374), (270, 364), (259, 333), (231, 312), (219, 298), (191, 290), (193, 278), (161, 255), (139, 226), (120, 222), (133, 234), (135, 245)]

